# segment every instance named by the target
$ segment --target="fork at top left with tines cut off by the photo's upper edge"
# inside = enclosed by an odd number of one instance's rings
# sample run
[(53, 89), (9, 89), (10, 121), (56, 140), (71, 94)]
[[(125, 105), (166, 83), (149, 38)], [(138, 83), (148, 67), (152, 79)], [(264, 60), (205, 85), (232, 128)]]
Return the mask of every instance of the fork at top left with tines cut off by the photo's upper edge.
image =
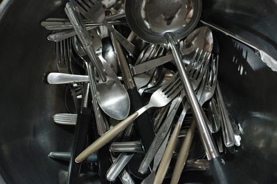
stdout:
[(123, 45), (123, 47), (136, 58), (138, 56), (138, 51), (136, 47), (129, 42), (125, 37), (122, 36), (112, 25), (107, 23), (105, 19), (105, 10), (102, 7), (100, 1), (97, 0), (70, 0), (78, 7), (78, 10), (84, 17), (92, 22), (102, 22), (110, 32), (114, 34), (114, 37)]

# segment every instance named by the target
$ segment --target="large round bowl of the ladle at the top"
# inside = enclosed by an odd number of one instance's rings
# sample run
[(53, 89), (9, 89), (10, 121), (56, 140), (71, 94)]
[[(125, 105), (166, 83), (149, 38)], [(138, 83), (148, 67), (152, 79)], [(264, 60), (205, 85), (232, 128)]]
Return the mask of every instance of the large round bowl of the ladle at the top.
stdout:
[(125, 14), (132, 31), (150, 43), (166, 43), (163, 34), (175, 32), (175, 39), (190, 33), (199, 20), (202, 1), (125, 1)]

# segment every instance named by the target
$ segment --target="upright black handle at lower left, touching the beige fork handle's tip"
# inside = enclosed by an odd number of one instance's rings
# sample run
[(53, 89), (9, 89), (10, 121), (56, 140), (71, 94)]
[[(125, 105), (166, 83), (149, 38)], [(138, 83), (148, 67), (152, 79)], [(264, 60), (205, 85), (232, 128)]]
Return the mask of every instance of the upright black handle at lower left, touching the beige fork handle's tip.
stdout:
[(75, 158), (84, 150), (87, 141), (87, 131), (91, 120), (91, 109), (81, 108), (78, 113), (77, 122), (74, 132), (74, 142), (69, 161), (69, 175), (67, 184), (77, 184), (82, 163), (75, 163)]

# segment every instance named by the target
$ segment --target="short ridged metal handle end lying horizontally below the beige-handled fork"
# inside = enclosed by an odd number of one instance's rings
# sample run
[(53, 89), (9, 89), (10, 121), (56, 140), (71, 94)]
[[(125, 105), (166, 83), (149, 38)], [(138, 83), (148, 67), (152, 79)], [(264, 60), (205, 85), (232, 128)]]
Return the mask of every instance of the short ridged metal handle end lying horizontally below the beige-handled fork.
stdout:
[(112, 152), (141, 152), (143, 153), (143, 147), (141, 146), (140, 141), (132, 141), (132, 142), (114, 142), (111, 143), (109, 149)]

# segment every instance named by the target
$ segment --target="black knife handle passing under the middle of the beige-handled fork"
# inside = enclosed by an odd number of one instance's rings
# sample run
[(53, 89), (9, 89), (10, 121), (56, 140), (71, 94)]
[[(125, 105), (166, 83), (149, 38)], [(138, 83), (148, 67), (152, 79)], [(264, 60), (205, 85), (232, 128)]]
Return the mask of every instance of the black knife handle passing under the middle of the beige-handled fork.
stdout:
[[(139, 92), (136, 88), (129, 89), (127, 92), (131, 101), (132, 112), (136, 112), (144, 106), (143, 101), (141, 100), (141, 95), (139, 95)], [(141, 138), (145, 152), (148, 152), (149, 147), (154, 139), (153, 125), (150, 121), (148, 112), (144, 112), (135, 120), (134, 127), (136, 132), (139, 134), (139, 137)]]

